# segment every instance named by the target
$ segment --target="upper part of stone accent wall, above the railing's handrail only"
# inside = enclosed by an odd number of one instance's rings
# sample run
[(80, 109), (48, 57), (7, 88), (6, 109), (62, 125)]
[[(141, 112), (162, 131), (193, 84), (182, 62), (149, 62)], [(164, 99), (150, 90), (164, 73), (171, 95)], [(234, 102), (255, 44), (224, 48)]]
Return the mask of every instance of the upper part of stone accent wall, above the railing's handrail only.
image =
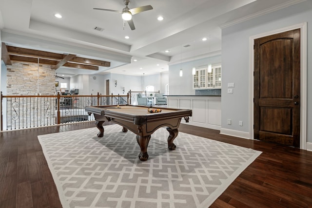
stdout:
[(7, 65), (7, 95), (55, 95), (55, 70), (50, 65), (12, 61)]

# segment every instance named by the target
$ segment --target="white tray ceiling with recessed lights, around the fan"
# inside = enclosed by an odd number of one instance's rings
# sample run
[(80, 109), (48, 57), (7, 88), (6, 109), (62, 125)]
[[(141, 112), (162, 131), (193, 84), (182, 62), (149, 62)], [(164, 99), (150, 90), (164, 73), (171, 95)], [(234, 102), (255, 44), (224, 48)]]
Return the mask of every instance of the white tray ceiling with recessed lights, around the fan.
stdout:
[[(121, 11), (123, 0), (0, 0), (1, 40), (8, 45), (57, 53), (73, 53), (79, 48), (75, 52), (80, 57), (111, 62), (110, 68), (100, 67), (98, 72), (62, 67), (57, 70), (59, 75), (150, 75), (168, 71), (171, 64), (220, 54), (222, 26), (301, 1), (130, 0), (130, 9), (153, 6), (153, 10), (133, 16), (136, 30), (132, 31), (127, 22), (124, 25), (121, 14), (93, 9)], [(56, 13), (63, 18), (55, 18)], [(164, 20), (158, 21), (158, 16)], [(208, 40), (202, 41), (204, 37)], [(49, 41), (55, 44), (46, 43)]]

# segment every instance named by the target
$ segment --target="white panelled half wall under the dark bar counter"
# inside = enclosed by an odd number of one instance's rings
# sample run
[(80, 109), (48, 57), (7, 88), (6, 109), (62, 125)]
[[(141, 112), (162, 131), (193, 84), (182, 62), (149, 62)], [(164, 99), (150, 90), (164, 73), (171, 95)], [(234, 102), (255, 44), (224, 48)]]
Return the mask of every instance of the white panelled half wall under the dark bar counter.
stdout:
[(191, 109), (193, 115), (189, 123), (181, 123), (209, 129), (221, 129), (220, 96), (168, 96), (168, 108)]

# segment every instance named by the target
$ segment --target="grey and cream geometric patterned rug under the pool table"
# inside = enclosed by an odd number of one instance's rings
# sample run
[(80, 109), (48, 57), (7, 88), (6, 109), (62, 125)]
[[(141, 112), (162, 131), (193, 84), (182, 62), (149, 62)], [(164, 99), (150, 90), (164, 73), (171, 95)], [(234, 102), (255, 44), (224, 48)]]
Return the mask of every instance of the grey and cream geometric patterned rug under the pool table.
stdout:
[(39, 135), (63, 208), (208, 208), (261, 151), (179, 132), (152, 134), (140, 161), (136, 134), (115, 124)]

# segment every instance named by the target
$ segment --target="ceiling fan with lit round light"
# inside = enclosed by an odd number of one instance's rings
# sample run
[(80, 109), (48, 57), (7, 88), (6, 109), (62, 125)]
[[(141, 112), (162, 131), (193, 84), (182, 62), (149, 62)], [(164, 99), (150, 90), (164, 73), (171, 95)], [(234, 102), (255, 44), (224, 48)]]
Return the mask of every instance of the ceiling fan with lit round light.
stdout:
[(133, 20), (132, 20), (133, 15), (140, 13), (140, 12), (145, 12), (145, 11), (153, 9), (153, 7), (151, 5), (139, 6), (139, 7), (133, 8), (133, 9), (129, 9), (128, 5), (129, 5), (130, 1), (124, 0), (124, 3), (126, 5), (126, 7), (123, 8), (122, 11), (117, 11), (117, 10), (112, 10), (112, 9), (101, 9), (101, 8), (93, 8), (93, 9), (121, 13), (122, 19), (124, 19), (125, 21), (128, 22), (131, 30), (136, 29), (135, 24), (133, 23)]

